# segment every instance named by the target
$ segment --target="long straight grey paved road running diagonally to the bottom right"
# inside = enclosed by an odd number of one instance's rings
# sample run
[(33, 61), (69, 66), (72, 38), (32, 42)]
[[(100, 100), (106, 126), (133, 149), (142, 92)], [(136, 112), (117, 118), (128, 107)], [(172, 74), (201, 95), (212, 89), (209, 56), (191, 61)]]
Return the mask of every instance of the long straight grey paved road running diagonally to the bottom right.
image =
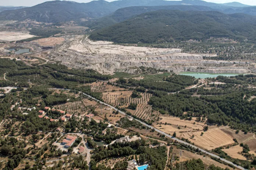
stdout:
[(144, 123), (144, 122), (142, 122), (142, 121), (140, 121), (140, 120), (138, 120), (138, 119), (135, 119), (135, 118), (133, 118), (133, 117), (127, 115), (125, 112), (122, 112), (121, 110), (118, 110), (117, 108), (115, 108), (115, 107), (113, 107), (113, 106), (111, 106), (111, 105), (109, 105), (109, 104), (107, 104), (107, 103), (104, 103), (104, 102), (102, 102), (102, 101), (100, 101), (100, 100), (97, 100), (97, 99), (95, 99), (94, 97), (87, 95), (86, 93), (83, 93), (83, 95), (85, 95), (85, 96), (87, 96), (87, 97), (89, 97), (89, 98), (91, 98), (91, 99), (93, 99), (93, 100), (95, 100), (95, 101), (98, 101), (98, 102), (100, 102), (101, 104), (104, 104), (105, 106), (108, 106), (108, 107), (114, 109), (115, 111), (119, 111), (121, 114), (123, 114), (123, 115), (125, 115), (125, 116), (127, 116), (127, 117), (129, 117), (129, 118), (132, 118), (132, 119), (134, 119), (134, 120), (140, 122), (142, 125), (145, 125), (145, 126), (151, 128), (151, 129), (154, 129), (156, 132), (159, 132), (159, 133), (165, 135), (166, 137), (172, 138), (173, 140), (176, 140), (176, 141), (178, 141), (179, 143), (183, 143), (183, 144), (189, 145), (189, 146), (191, 146), (191, 147), (193, 147), (193, 148), (199, 149), (199, 151), (201, 151), (201, 152), (203, 152), (203, 153), (205, 153), (205, 154), (207, 154), (207, 155), (213, 156), (213, 157), (215, 157), (215, 158), (218, 158), (218, 159), (222, 160), (223, 162), (229, 163), (229, 164), (231, 164), (231, 165), (237, 167), (238, 169), (247, 170), (247, 169), (245, 169), (245, 168), (243, 168), (243, 167), (241, 167), (241, 166), (235, 165), (234, 163), (232, 163), (232, 162), (230, 162), (230, 161), (228, 161), (228, 160), (226, 160), (226, 159), (220, 158), (220, 156), (214, 155), (214, 154), (212, 154), (212, 153), (210, 153), (210, 152), (207, 152), (207, 151), (205, 151), (205, 150), (203, 150), (203, 149), (201, 149), (201, 148), (198, 148), (198, 147), (196, 147), (196, 146), (194, 146), (194, 145), (191, 145), (191, 144), (189, 144), (189, 143), (186, 143), (185, 141), (179, 140), (178, 138), (175, 138), (175, 137), (173, 137), (173, 136), (171, 136), (171, 135), (169, 135), (169, 134), (167, 134), (167, 133), (164, 133), (163, 131), (158, 130), (158, 129), (156, 129), (156, 128), (150, 126), (150, 125), (147, 125), (146, 123)]

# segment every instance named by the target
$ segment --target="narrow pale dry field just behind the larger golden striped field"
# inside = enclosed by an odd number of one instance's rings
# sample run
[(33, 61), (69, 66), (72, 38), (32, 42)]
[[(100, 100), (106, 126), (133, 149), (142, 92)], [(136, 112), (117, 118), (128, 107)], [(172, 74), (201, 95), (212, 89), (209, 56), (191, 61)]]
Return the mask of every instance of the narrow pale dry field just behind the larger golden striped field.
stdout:
[[(170, 123), (171, 125), (177, 125), (177, 126), (183, 126), (183, 127), (189, 127), (191, 129), (199, 129), (203, 130), (203, 127), (206, 126), (205, 123), (202, 122), (196, 122), (195, 119), (192, 119), (191, 121), (189, 120), (181, 120), (180, 118), (177, 117), (171, 117), (167, 115), (161, 115), (159, 123)], [(195, 123), (195, 124), (193, 124)]]

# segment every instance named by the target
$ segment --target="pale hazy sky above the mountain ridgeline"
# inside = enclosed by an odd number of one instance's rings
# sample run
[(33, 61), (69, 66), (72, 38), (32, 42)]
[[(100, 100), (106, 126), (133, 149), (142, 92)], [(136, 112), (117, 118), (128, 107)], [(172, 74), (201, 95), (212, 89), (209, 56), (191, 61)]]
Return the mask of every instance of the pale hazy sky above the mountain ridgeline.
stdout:
[[(0, 6), (27, 6), (31, 7), (33, 5), (37, 5), (46, 1), (50, 0), (0, 0)], [(90, 2), (92, 0), (72, 0), (76, 1), (79, 3), (86, 3)], [(114, 0), (107, 0), (107, 1), (114, 1)], [(139, 1), (139, 0), (138, 0)], [(228, 3), (228, 2), (233, 2), (237, 1), (243, 4), (248, 4), (248, 5), (256, 5), (256, 0), (205, 0), (207, 2), (214, 2), (214, 3)]]

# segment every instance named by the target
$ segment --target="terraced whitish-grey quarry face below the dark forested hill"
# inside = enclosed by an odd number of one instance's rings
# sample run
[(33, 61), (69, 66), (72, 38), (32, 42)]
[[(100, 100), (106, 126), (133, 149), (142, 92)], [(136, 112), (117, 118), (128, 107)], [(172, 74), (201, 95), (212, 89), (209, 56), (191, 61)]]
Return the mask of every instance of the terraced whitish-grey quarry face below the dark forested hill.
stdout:
[(215, 54), (182, 53), (181, 49), (147, 48), (114, 45), (107, 41), (90, 41), (76, 36), (54, 49), (50, 58), (77, 69), (93, 69), (102, 74), (115, 71), (134, 73), (140, 66), (165, 69), (175, 73), (250, 73), (253, 66), (239, 61), (204, 60)]

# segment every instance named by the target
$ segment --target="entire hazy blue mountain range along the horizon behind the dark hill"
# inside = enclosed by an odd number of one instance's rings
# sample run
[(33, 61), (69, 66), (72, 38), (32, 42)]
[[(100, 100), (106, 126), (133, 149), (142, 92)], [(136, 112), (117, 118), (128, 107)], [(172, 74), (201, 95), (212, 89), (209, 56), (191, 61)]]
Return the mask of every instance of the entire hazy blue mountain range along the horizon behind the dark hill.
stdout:
[[(107, 2), (104, 0), (91, 1), (89, 3), (76, 3), (73, 1), (49, 1), (33, 7), (5, 10), (0, 12), (0, 20), (18, 20), (33, 19), (39, 22), (65, 22), (65, 21), (85, 21), (91, 18), (100, 18), (107, 16), (114, 11), (132, 6), (161, 6), (161, 5), (200, 5), (211, 7), (212, 10), (225, 13), (243, 12), (250, 15), (256, 15), (256, 7), (247, 7), (241, 3), (216, 4), (202, 0), (118, 0)], [(232, 6), (234, 5), (234, 6)], [(19, 7), (13, 7), (19, 8)], [(248, 8), (248, 9), (244, 9)], [(250, 12), (248, 12), (248, 10)]]

